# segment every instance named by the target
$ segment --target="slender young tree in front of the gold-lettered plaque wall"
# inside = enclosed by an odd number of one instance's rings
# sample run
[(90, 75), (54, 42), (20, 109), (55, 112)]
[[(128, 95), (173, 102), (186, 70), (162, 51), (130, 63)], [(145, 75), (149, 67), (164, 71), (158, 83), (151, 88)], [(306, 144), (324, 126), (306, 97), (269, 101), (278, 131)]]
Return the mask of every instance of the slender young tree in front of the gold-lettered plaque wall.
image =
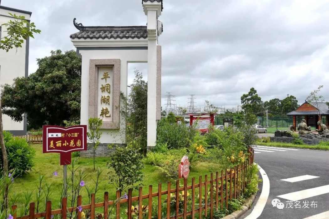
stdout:
[(102, 136), (102, 133), (100, 132), (99, 128), (102, 126), (103, 120), (99, 118), (89, 118), (88, 120), (88, 126), (90, 132), (87, 132), (88, 140), (92, 143), (92, 152), (93, 152), (93, 162), (94, 162), (94, 170), (95, 168), (95, 151), (100, 145), (100, 138)]

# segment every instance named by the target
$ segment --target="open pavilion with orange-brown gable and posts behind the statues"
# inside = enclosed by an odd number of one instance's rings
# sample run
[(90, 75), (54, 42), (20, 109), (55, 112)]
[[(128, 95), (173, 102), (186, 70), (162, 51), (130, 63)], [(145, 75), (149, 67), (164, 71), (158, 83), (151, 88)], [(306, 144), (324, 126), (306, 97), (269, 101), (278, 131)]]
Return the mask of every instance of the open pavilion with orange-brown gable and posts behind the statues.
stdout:
[(296, 110), (288, 113), (288, 116), (293, 116), (293, 129), (296, 131), (296, 117), (303, 117), (306, 120), (306, 124), (310, 126), (317, 126), (317, 122), (322, 120), (318, 114), (321, 114), (321, 117), (326, 117), (325, 124), (329, 126), (329, 107), (326, 103), (322, 102), (307, 102), (300, 105)]

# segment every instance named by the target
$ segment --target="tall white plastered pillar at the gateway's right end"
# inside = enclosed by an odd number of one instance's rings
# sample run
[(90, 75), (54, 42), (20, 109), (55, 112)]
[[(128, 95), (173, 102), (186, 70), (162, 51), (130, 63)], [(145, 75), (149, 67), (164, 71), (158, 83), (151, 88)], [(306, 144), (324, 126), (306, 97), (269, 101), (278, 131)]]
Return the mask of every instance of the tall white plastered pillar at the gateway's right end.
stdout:
[(147, 15), (147, 146), (155, 146), (157, 140), (157, 36), (158, 17), (161, 15), (161, 3), (148, 1), (143, 3)]

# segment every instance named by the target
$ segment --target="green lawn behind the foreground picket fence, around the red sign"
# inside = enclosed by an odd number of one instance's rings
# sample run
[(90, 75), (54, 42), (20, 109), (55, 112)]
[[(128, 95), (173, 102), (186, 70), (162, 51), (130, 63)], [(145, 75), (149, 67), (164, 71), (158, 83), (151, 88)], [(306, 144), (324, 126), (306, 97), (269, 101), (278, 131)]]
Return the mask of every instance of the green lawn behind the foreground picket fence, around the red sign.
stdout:
[[(42, 154), (42, 145), (34, 144), (32, 147), (36, 150), (36, 156), (34, 158), (34, 169), (28, 174), (16, 178), (14, 184), (12, 185), (12, 190), (10, 196), (18, 195), (17, 205), (18, 208), (23, 206), (24, 203), (24, 195), (23, 192), (32, 192), (32, 199), (30, 202), (35, 202), (35, 194), (37, 192), (37, 184), (38, 184), (38, 174), (40, 172), (41, 175), (45, 174), (47, 177), (47, 184), (51, 185), (52, 194), (50, 196), (50, 200), (52, 201), (52, 209), (58, 209), (60, 206), (60, 191), (63, 183), (63, 166), (59, 165), (60, 158), (57, 153), (46, 153)], [(72, 157), (72, 162), (75, 158)], [(108, 161), (107, 157), (99, 157), (96, 158), (96, 165), (102, 168), (103, 172), (101, 174), (101, 179), (103, 180), (100, 184), (99, 191), (96, 194), (96, 202), (102, 202), (104, 199), (104, 192), (109, 192), (109, 200), (115, 199), (116, 189), (114, 185), (110, 185), (108, 182), (107, 176), (107, 168), (106, 163)], [(88, 179), (85, 179), (86, 186), (93, 186), (93, 178), (96, 176), (96, 172), (93, 171), (92, 158), (77, 158), (77, 164), (82, 165), (83, 169), (89, 172)], [(210, 177), (211, 172), (220, 171), (221, 166), (219, 164), (209, 163), (209, 162), (200, 162), (198, 165), (193, 167), (190, 171), (190, 176), (188, 178), (189, 185), (191, 184), (192, 177), (195, 177), (195, 183), (199, 182), (199, 176), (203, 176), (208, 174)], [(52, 175), (54, 171), (58, 172), (58, 176)], [(68, 170), (69, 172), (69, 170)], [(156, 167), (152, 165), (145, 165), (144, 169), (144, 180), (143, 180), (143, 194), (148, 193), (148, 186), (153, 185), (153, 192), (158, 191), (158, 184), (162, 184), (162, 190), (167, 189), (167, 180), (164, 179), (156, 170)], [(69, 173), (68, 173), (69, 174)], [(208, 178), (209, 178), (208, 177)], [(181, 180), (181, 184), (183, 184), (183, 180)], [(176, 183), (171, 183), (171, 188), (175, 188)], [(82, 203), (89, 204), (89, 199), (87, 197), (86, 189), (83, 188), (82, 192)], [(133, 191), (133, 196), (138, 196), (138, 191)], [(45, 206), (41, 206), (39, 211), (44, 211)]]

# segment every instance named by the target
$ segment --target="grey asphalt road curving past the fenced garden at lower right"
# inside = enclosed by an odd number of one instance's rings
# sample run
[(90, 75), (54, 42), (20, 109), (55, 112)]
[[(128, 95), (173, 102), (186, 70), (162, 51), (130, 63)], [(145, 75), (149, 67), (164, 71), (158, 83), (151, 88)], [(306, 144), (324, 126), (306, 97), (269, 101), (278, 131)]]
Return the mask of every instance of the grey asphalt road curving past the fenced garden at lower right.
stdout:
[[(270, 182), (269, 196), (259, 219), (304, 219), (320, 213), (322, 217), (317, 215), (312, 218), (329, 218), (329, 151), (257, 146), (255, 152), (254, 162), (265, 170)], [(299, 178), (288, 180), (294, 182), (282, 180), (293, 177)], [(259, 188), (253, 208), (261, 193), (262, 183)], [(309, 190), (303, 191), (306, 189)], [(289, 194), (292, 192), (296, 193)], [(284, 208), (278, 209), (277, 204), (273, 207), (273, 199), (279, 199), (283, 204), (278, 206), (284, 205)], [(248, 216), (253, 208), (242, 218)]]

